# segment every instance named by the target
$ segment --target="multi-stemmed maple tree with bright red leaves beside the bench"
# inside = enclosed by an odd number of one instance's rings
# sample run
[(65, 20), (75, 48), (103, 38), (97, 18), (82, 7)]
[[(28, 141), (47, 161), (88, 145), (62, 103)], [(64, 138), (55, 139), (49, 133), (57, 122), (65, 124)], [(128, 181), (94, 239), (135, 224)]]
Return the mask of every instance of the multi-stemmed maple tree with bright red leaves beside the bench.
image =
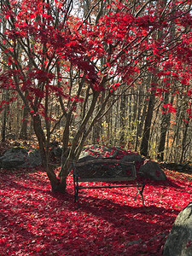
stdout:
[[(82, 10), (76, 15), (73, 1), (1, 2), (1, 88), (15, 92), (10, 101), (19, 96), (30, 113), (53, 190), (65, 191), (71, 162), (79, 158), (93, 125), (118, 99), (119, 86), (125, 92), (137, 79), (151, 75), (155, 78), (151, 90), (160, 96), (165, 90), (175, 90), (174, 79), (183, 86), (189, 84), (190, 4), (181, 0), (99, 1), (81, 18)], [(161, 88), (158, 81), (168, 73), (174, 79), (167, 79), (166, 87)], [(191, 99), (190, 89), (187, 96)], [(57, 119), (51, 115), (53, 97), (62, 109)], [(8, 103), (1, 102), (1, 108)], [(81, 116), (79, 108), (83, 109)], [(168, 111), (175, 109), (168, 105)], [(191, 117), (190, 103), (187, 111)], [(61, 119), (58, 178), (49, 165), (49, 141)]]

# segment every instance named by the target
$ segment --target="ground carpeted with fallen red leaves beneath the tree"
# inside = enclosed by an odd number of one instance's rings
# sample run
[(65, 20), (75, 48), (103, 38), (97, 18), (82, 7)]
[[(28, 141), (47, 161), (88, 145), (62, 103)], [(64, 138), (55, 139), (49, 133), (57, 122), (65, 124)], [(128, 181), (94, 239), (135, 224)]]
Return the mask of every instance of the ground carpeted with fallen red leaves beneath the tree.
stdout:
[(0, 254), (161, 255), (177, 214), (192, 201), (192, 177), (166, 171), (165, 183), (136, 188), (85, 189), (73, 202), (73, 177), (65, 195), (50, 192), (46, 174), (0, 172)]

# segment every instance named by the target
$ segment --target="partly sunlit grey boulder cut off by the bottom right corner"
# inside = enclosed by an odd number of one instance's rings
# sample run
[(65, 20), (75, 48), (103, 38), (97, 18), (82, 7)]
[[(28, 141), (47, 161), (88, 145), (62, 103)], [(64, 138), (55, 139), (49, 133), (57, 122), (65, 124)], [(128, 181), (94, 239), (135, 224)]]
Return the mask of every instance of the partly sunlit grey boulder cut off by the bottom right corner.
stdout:
[(163, 255), (192, 255), (192, 202), (178, 214), (166, 239)]

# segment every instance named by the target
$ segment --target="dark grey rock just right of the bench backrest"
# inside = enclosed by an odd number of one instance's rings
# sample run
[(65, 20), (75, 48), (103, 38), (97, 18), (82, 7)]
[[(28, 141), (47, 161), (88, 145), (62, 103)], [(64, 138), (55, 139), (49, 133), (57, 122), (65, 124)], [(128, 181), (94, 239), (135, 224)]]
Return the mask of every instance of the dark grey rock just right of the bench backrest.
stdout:
[(139, 168), (139, 173), (152, 180), (166, 180), (166, 174), (160, 169), (159, 164), (152, 160), (145, 160), (143, 166)]

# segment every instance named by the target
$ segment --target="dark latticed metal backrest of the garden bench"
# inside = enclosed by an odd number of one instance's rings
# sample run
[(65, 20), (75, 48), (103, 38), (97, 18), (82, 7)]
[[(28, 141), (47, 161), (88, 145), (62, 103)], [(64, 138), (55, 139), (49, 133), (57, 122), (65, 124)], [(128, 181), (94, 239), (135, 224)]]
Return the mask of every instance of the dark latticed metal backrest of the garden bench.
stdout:
[(99, 159), (73, 163), (73, 176), (79, 182), (129, 181), (137, 172), (135, 162)]

